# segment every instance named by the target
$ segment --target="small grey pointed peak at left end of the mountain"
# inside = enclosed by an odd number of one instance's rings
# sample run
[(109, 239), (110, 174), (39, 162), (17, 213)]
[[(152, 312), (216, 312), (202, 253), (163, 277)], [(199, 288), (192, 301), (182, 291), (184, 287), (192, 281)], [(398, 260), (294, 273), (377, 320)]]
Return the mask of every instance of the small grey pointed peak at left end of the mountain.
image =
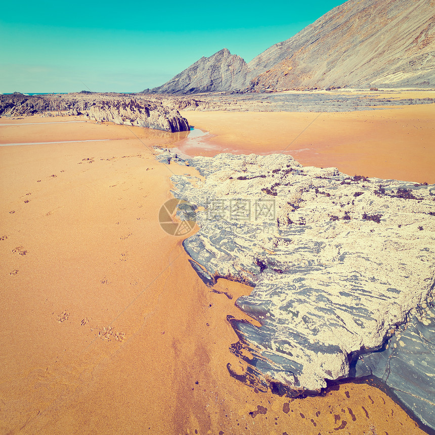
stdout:
[[(210, 57), (202, 57), (171, 80), (154, 88), (152, 93), (193, 94), (199, 92), (231, 91), (244, 87), (248, 72), (246, 62), (228, 49)], [(145, 92), (145, 91), (144, 91)]]

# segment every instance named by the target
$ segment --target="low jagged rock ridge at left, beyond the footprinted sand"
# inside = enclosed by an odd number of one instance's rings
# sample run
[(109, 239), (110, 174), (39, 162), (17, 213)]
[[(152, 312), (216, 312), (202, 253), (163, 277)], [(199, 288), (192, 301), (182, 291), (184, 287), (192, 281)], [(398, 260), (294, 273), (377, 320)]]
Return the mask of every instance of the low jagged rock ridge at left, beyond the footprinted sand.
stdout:
[(56, 96), (25, 96), (17, 93), (0, 96), (0, 115), (34, 114), (85, 115), (97, 121), (136, 125), (171, 133), (190, 129), (187, 119), (178, 110), (129, 96), (83, 92)]

